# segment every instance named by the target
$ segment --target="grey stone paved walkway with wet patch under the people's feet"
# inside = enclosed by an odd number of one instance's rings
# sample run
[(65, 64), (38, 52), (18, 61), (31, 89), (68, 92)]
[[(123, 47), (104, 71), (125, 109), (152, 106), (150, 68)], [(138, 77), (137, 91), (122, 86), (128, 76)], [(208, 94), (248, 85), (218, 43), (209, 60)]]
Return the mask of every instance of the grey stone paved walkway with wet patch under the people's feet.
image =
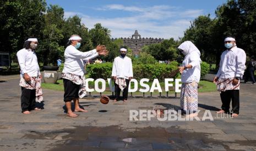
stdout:
[(256, 85), (242, 84), (238, 118), (217, 115), (220, 96), (210, 92), (199, 94), (198, 117), (209, 109), (213, 121), (186, 121), (181, 115), (183, 121), (130, 121), (130, 110), (178, 109), (179, 98), (128, 98), (127, 103), (108, 104), (84, 98), (80, 104), (89, 112), (69, 118), (63, 92), (43, 90), (44, 109), (24, 115), (18, 82), (0, 77), (0, 150), (256, 150)]

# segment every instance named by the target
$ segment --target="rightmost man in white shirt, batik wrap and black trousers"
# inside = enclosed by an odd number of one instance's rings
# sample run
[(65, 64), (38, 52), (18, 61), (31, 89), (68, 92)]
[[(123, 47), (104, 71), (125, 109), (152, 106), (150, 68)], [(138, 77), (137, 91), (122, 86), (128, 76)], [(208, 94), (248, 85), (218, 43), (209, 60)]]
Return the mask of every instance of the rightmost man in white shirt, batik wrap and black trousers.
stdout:
[(214, 78), (222, 102), (221, 110), (217, 113), (229, 113), (232, 100), (232, 117), (238, 117), (239, 87), (246, 69), (246, 53), (237, 48), (235, 38), (228, 36), (224, 42), (227, 50), (221, 54), (220, 68)]

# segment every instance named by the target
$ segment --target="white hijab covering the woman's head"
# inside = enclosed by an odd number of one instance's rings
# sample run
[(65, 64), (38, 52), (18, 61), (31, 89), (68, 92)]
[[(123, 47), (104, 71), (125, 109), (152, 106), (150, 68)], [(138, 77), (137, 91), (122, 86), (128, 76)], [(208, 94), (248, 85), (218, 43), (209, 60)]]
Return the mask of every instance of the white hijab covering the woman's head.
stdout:
[[(183, 42), (181, 45), (179, 45), (178, 49), (183, 50), (184, 54), (186, 54), (186, 55), (188, 55), (188, 54), (190, 54), (190, 53), (195, 51), (195, 53), (197, 53), (199, 56), (201, 56), (201, 53), (198, 50), (198, 48), (195, 47), (195, 45), (192, 42), (190, 42), (190, 41)], [(200, 57), (199, 57), (199, 61), (201, 62)]]

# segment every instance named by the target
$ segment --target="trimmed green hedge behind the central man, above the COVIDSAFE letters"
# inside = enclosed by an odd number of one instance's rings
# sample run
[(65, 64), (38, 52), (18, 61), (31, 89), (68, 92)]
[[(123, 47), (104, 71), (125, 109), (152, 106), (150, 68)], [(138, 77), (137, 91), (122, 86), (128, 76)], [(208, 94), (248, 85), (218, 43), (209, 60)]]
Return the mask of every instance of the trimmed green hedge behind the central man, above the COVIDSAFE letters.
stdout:
[[(169, 65), (166, 65), (165, 63), (133, 65), (133, 77), (135, 79), (148, 78), (150, 80), (159, 79), (160, 81), (163, 81), (165, 78), (170, 78), (168, 75), (171, 71), (177, 69), (177, 65), (177, 62), (172, 62)], [(111, 78), (112, 63), (106, 62), (88, 65), (86, 67), (86, 72), (88, 73), (88, 77), (94, 79)]]

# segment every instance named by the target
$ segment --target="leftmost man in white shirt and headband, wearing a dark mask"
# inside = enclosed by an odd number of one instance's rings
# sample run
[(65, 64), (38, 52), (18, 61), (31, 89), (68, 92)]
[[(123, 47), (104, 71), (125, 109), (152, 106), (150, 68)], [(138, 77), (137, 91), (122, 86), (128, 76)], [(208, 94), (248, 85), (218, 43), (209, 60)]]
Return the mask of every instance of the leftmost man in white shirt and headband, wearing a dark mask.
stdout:
[(24, 48), (17, 53), (20, 66), (21, 86), (21, 112), (30, 114), (31, 110), (39, 110), (36, 102), (41, 102), (41, 73), (37, 62), (35, 49), (37, 48), (37, 38), (29, 38), (24, 43)]

